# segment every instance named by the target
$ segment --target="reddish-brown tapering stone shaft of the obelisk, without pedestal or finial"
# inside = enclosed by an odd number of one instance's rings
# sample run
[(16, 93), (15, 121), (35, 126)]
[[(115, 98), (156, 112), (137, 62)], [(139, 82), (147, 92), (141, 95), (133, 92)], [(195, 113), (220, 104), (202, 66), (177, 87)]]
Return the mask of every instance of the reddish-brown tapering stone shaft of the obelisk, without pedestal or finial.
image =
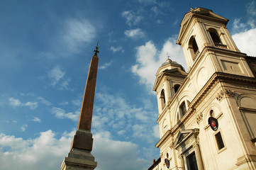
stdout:
[(89, 67), (87, 84), (84, 90), (84, 98), (82, 101), (82, 108), (80, 112), (77, 130), (91, 130), (91, 118), (94, 108), (94, 94), (96, 86), (96, 77), (98, 71), (99, 57), (94, 55), (91, 58)]

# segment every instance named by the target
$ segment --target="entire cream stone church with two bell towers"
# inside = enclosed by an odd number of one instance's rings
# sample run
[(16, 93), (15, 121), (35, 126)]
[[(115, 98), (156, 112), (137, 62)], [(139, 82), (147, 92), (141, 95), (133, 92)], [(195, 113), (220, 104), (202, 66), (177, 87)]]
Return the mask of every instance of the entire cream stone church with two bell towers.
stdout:
[(156, 73), (160, 158), (149, 169), (256, 169), (256, 60), (227, 23), (206, 8), (184, 15), (188, 72), (168, 59)]

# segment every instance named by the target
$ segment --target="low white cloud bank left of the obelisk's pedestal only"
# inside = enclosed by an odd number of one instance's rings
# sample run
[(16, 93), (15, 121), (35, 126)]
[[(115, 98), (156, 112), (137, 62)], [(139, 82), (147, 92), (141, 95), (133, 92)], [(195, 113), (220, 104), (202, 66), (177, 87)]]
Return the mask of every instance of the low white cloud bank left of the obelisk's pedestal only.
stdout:
[(74, 132), (63, 133), (55, 138), (51, 130), (40, 132), (35, 139), (0, 134), (1, 169), (60, 169), (65, 155), (69, 152)]

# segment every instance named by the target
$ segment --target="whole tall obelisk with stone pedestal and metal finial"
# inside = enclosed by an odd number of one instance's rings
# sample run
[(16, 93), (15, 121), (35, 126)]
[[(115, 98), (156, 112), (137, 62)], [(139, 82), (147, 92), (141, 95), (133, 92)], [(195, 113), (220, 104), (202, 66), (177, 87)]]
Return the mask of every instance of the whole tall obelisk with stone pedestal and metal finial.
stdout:
[(77, 132), (72, 140), (69, 154), (62, 162), (61, 170), (87, 170), (95, 169), (97, 166), (97, 162), (94, 162), (94, 157), (91, 154), (93, 144), (91, 118), (94, 108), (94, 94), (99, 62), (98, 49), (97, 44), (94, 56), (91, 58)]

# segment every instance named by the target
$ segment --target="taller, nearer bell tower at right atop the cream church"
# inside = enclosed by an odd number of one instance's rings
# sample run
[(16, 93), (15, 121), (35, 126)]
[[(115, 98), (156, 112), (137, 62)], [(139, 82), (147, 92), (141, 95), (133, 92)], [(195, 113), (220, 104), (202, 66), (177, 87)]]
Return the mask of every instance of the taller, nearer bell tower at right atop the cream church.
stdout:
[(184, 15), (177, 44), (182, 45), (189, 72), (201, 88), (214, 72), (254, 77), (228, 32), (228, 19), (206, 8), (191, 8)]

